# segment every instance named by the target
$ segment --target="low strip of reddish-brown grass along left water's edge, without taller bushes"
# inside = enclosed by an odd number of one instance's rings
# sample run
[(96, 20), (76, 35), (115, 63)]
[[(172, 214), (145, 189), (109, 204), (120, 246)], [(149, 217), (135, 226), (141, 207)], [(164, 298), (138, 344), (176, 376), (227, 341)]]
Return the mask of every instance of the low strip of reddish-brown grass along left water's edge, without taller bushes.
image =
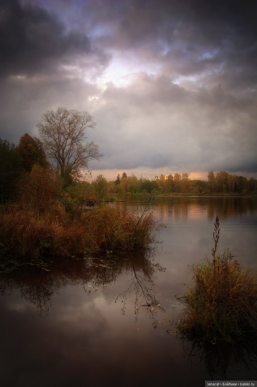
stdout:
[(61, 204), (38, 213), (13, 205), (0, 216), (0, 254), (10, 257), (73, 256), (98, 250), (135, 250), (153, 241), (152, 212), (129, 214), (103, 206), (70, 216)]

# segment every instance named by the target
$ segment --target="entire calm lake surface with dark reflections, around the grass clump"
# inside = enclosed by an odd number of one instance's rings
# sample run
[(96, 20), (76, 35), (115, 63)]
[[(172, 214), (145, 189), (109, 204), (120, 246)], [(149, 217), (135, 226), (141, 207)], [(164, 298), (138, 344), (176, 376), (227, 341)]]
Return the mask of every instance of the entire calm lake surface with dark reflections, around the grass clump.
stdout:
[[(127, 207), (135, 209), (132, 198)], [(211, 257), (217, 214), (219, 249), (238, 249), (240, 263), (257, 270), (256, 199), (168, 197), (155, 213), (166, 227), (152, 254), (61, 260), (50, 271), (29, 266), (0, 276), (1, 385), (256, 380), (256, 343), (197, 348), (167, 332), (181, 311), (175, 295), (191, 284), (187, 265)]]

